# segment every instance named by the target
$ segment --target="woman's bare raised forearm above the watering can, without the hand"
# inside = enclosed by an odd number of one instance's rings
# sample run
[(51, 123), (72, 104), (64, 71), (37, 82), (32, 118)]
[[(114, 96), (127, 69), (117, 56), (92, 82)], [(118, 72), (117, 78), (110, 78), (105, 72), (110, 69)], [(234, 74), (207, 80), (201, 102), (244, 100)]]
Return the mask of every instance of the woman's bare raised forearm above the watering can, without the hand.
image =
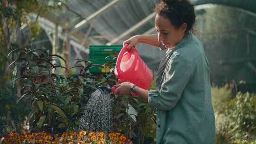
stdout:
[(137, 35), (139, 43), (144, 43), (148, 45), (154, 45), (159, 47), (159, 41), (157, 35)]

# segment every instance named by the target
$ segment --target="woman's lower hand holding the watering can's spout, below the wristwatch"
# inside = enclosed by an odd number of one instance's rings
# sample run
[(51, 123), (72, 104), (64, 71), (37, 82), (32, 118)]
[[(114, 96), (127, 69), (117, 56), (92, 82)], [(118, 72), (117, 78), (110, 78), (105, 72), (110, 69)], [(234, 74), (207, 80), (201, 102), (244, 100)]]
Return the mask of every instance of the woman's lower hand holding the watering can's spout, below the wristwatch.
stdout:
[(122, 96), (122, 95), (128, 95), (131, 93), (130, 88), (133, 86), (130, 82), (123, 82), (118, 85), (114, 85), (114, 87), (118, 87), (114, 91), (114, 95)]

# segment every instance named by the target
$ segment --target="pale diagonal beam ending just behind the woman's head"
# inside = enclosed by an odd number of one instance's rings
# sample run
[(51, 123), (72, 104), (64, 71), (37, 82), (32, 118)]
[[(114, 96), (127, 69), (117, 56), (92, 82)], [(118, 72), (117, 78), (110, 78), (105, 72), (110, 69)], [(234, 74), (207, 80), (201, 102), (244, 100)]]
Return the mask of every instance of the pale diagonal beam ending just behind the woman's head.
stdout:
[(146, 18), (142, 19), (140, 22), (138, 22), (136, 25), (134, 25), (133, 27), (129, 28), (127, 31), (125, 31), (124, 33), (122, 33), (120, 36), (114, 38), (112, 41), (110, 41), (109, 43), (107, 43), (107, 45), (113, 45), (116, 42), (118, 42), (119, 40), (121, 40), (122, 38), (128, 36), (129, 34), (133, 33), (134, 31), (136, 31), (137, 29), (139, 29), (140, 27), (142, 27), (144, 24), (146, 24), (149, 20), (151, 20), (152, 18), (155, 17), (155, 12), (150, 14), (149, 16), (147, 16)]

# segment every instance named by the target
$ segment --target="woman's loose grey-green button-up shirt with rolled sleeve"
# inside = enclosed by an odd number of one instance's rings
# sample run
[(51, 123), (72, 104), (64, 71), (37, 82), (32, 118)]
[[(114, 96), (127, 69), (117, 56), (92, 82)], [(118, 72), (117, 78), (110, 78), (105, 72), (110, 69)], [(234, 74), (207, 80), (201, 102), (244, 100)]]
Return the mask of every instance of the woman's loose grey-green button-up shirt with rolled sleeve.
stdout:
[(160, 90), (148, 102), (157, 109), (157, 144), (214, 144), (210, 68), (201, 42), (188, 34), (176, 46)]

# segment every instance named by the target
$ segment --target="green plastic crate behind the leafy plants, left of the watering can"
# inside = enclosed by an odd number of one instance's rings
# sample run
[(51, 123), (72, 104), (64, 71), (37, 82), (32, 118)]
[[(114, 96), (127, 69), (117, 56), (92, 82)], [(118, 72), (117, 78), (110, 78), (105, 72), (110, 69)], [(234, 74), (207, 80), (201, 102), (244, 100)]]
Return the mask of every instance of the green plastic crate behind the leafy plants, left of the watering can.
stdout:
[[(116, 59), (113, 60), (113, 57), (109, 57), (111, 54), (119, 54), (123, 45), (91, 45), (89, 60), (92, 64), (104, 64), (109, 62), (116, 62)], [(106, 59), (107, 58), (107, 59)], [(111, 64), (115, 66), (115, 64)], [(109, 69), (105, 70), (101, 67), (92, 67), (89, 69), (91, 73), (103, 73), (109, 72)]]

